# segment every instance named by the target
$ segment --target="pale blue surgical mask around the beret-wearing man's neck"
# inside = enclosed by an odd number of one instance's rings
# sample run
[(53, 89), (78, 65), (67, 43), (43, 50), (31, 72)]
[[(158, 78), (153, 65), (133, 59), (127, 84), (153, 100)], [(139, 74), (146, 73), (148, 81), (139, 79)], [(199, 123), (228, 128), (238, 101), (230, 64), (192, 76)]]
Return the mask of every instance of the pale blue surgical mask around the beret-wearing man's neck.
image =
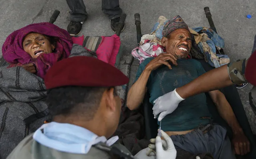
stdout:
[(108, 142), (105, 136), (99, 137), (80, 126), (50, 122), (36, 130), (33, 139), (58, 151), (86, 154), (92, 145), (103, 142), (110, 146), (118, 140), (118, 137), (112, 137)]

